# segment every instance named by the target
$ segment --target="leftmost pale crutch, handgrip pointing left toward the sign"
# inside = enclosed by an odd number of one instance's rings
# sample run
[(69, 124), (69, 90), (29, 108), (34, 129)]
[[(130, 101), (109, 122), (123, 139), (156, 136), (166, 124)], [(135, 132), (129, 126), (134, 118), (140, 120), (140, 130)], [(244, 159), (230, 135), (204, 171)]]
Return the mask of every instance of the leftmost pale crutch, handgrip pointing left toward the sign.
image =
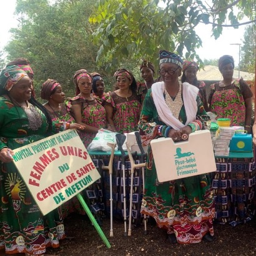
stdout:
[(102, 170), (109, 170), (109, 185), (110, 185), (110, 206), (111, 206), (111, 230), (109, 233), (110, 237), (114, 236), (113, 233), (113, 192), (112, 192), (112, 174), (113, 174), (113, 159), (114, 159), (114, 152), (115, 152), (115, 147), (116, 147), (116, 143), (111, 143), (111, 142), (107, 142), (107, 145), (109, 147), (111, 147), (111, 157), (109, 159), (109, 165), (102, 165)]

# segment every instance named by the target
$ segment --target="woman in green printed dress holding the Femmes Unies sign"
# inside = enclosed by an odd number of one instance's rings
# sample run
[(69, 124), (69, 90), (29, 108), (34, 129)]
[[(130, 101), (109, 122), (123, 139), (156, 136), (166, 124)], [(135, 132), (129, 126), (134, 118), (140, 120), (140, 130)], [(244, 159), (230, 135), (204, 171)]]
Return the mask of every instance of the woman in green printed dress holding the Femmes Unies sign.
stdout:
[[(59, 218), (54, 217), (55, 211), (45, 216), (41, 214), (11, 158), (12, 150), (44, 139), (54, 131), (51, 117), (46, 109), (31, 97), (31, 91), (31, 79), (20, 67), (7, 66), (2, 69), (0, 249), (5, 248), (8, 255), (43, 255), (46, 247), (59, 247), (59, 239), (65, 237), (63, 224), (59, 222)], [(41, 228), (37, 229), (38, 226)]]

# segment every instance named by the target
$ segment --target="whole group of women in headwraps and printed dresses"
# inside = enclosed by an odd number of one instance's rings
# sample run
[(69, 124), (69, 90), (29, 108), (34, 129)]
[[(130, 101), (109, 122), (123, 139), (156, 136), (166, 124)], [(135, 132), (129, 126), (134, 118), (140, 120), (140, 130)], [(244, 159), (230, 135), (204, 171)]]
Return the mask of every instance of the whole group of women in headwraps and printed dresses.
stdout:
[[(43, 106), (35, 99), (34, 73), (26, 59), (10, 62), (1, 71), (0, 249), (4, 248), (7, 254), (44, 255), (46, 247), (58, 247), (59, 239), (65, 237), (64, 217), (74, 210), (82, 212), (79, 203), (72, 200), (42, 216), (12, 162), (13, 149), (66, 129), (77, 129), (86, 147), (101, 128), (120, 133), (139, 130), (142, 142), (149, 145), (141, 214), (150, 215), (158, 227), (166, 229), (172, 244), (214, 240), (215, 207), (209, 175), (159, 182), (150, 140), (170, 137), (179, 141), (184, 135), (187, 138), (204, 127), (205, 111), (218, 117), (232, 117), (233, 125), (244, 124), (249, 128), (252, 92), (242, 79), (232, 78), (231, 56), (220, 58), (219, 69), (224, 79), (211, 86), (209, 104), (204, 82), (197, 81), (196, 62), (182, 61), (169, 51), (160, 51), (159, 59), (159, 82), (154, 79), (153, 64), (143, 61), (143, 83), (136, 82), (126, 69), (119, 69), (114, 74), (116, 90), (109, 93), (104, 92), (100, 74), (80, 69), (73, 77), (76, 96), (67, 102), (61, 84), (47, 79), (41, 88), (41, 98), (46, 101)], [(21, 186), (24, 192), (19, 193)], [(96, 197), (102, 197), (99, 185), (91, 189), (95, 189)], [(97, 214), (104, 212), (104, 205), (96, 197), (91, 209)], [(41, 229), (32, 232), (38, 226)]]

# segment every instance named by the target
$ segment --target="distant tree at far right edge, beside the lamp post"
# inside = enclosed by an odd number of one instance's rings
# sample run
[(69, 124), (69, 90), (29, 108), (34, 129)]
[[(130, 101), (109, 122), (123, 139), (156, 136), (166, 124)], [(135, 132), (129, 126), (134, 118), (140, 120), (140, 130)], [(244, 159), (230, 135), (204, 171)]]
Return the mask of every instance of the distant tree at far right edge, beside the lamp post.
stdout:
[(255, 72), (256, 26), (247, 26), (244, 33), (244, 45), (241, 47), (241, 71)]

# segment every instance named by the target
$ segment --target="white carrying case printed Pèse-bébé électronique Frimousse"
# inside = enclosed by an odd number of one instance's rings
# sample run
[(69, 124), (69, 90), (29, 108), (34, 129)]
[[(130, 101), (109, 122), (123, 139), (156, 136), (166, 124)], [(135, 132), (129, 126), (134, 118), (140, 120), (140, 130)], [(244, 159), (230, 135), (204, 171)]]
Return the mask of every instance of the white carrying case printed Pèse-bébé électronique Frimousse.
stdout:
[(151, 141), (159, 182), (215, 172), (216, 164), (209, 130), (189, 134), (189, 139), (170, 138)]

